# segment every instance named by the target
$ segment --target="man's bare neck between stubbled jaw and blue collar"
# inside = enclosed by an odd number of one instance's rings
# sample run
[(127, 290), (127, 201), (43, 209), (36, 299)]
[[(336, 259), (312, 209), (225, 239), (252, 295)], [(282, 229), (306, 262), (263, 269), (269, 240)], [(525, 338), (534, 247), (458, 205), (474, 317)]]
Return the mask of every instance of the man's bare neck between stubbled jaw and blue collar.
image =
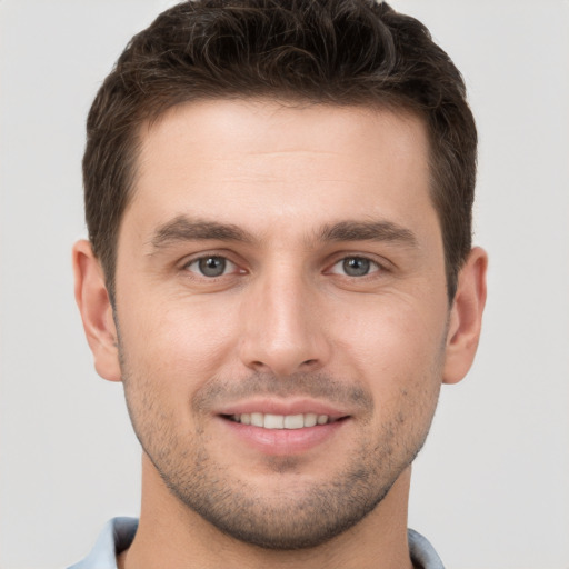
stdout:
[(270, 550), (219, 531), (163, 485), (143, 458), (142, 505), (131, 547), (118, 558), (119, 569), (411, 569), (407, 542), (410, 467), (363, 520), (330, 541), (309, 549)]

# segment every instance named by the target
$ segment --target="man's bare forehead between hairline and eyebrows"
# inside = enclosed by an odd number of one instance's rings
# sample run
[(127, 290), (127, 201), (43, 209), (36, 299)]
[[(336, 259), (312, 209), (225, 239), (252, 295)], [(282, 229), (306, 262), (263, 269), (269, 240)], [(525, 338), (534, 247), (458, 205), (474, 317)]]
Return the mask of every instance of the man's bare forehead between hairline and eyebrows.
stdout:
[[(276, 101), (174, 107), (140, 131), (126, 218), (180, 214), (270, 231), (432, 214), (428, 138), (410, 113)], [(132, 210), (132, 212), (131, 212)], [(332, 219), (333, 218), (333, 219)]]

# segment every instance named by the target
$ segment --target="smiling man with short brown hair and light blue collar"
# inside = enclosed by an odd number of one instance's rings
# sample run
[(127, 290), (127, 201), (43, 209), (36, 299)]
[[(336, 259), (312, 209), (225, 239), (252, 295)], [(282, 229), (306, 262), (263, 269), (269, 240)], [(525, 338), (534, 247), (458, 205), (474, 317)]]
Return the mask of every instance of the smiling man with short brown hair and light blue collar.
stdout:
[(442, 567), (411, 463), (486, 299), (476, 128), (418, 21), (183, 2), (101, 87), (76, 297), (143, 449), (76, 568)]

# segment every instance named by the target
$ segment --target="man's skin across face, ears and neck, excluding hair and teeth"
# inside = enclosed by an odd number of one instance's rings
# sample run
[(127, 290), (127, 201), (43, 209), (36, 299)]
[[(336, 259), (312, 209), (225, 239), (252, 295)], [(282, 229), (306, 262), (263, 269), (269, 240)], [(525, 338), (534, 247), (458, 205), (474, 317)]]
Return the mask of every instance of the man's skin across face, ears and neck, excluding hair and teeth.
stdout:
[[(473, 249), (449, 306), (422, 122), (221, 100), (141, 140), (114, 315), (89, 243), (73, 252), (96, 368), (144, 450), (120, 567), (411, 567), (410, 465), (471, 365), (487, 266)], [(305, 446), (227, 418), (319, 406), (341, 421)]]

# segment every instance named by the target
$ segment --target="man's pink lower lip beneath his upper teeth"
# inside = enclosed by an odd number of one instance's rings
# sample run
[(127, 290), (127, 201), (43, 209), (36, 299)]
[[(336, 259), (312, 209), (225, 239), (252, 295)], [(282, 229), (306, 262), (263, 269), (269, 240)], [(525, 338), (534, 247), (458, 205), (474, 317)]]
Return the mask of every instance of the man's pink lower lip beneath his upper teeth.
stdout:
[(331, 440), (348, 419), (305, 427), (302, 429), (263, 429), (221, 418), (227, 429), (248, 446), (270, 456), (291, 456), (307, 452)]

